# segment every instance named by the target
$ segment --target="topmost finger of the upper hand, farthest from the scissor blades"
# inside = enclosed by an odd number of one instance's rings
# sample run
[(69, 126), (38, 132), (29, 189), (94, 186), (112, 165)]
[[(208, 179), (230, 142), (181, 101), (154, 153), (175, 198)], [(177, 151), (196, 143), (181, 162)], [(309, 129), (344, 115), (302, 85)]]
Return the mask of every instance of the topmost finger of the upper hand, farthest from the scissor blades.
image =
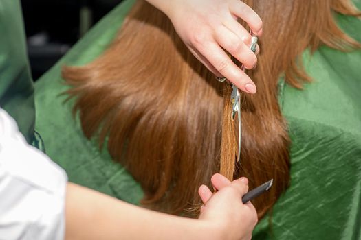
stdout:
[(249, 5), (243, 3), (243, 1), (234, 0), (230, 3), (230, 12), (235, 16), (243, 19), (254, 34), (257, 36), (262, 35), (262, 27), (263, 23), (261, 18), (259, 17)]

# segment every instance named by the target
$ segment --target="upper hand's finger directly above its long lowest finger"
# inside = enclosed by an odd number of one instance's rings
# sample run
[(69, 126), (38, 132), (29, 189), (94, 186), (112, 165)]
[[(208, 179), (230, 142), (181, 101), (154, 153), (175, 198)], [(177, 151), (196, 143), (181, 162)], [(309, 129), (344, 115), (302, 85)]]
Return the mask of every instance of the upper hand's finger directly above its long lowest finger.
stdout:
[(234, 58), (237, 58), (246, 69), (252, 69), (257, 62), (256, 54), (243, 41), (224, 26), (217, 28), (215, 40)]

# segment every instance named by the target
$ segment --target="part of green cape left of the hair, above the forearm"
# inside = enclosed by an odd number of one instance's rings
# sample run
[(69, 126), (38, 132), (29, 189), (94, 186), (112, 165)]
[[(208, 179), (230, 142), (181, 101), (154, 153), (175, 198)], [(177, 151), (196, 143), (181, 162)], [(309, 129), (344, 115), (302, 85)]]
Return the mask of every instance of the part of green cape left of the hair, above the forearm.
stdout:
[(61, 79), (64, 64), (85, 64), (107, 47), (122, 25), (134, 1), (124, 1), (76, 44), (67, 55), (35, 85), (36, 131), (45, 143), (45, 152), (68, 174), (69, 181), (138, 204), (139, 184), (125, 169), (111, 160), (106, 151), (85, 139), (72, 116), (73, 101), (64, 102), (66, 89)]

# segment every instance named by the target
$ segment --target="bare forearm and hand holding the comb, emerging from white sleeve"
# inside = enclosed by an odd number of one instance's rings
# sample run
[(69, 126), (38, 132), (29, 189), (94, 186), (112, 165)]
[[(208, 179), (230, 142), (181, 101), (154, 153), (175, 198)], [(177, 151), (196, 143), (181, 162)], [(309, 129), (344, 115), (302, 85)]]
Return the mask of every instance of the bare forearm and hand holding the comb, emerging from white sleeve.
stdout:
[(241, 201), (248, 180), (215, 174), (211, 181), (218, 191), (199, 188), (199, 219), (157, 213), (69, 183), (65, 239), (250, 239), (257, 216), (251, 203)]

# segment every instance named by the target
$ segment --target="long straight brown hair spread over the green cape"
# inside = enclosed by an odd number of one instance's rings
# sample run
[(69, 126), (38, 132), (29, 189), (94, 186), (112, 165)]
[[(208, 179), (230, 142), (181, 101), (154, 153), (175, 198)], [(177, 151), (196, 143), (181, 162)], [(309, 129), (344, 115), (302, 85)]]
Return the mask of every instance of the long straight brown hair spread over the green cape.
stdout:
[[(333, 19), (358, 15), (348, 0), (245, 1), (264, 23), (261, 54), (249, 74), (256, 95), (242, 94), (241, 161), (229, 141), (229, 86), (219, 83), (186, 49), (171, 21), (138, 1), (120, 34), (84, 67), (65, 67), (76, 97), (74, 112), (87, 138), (106, 144), (144, 189), (143, 204), (184, 214), (200, 203), (197, 189), (221, 171), (247, 176), (250, 189), (270, 178), (270, 193), (254, 200), (259, 213), (272, 207), (289, 184), (289, 137), (278, 106), (281, 73), (294, 87), (309, 81), (300, 61), (307, 48), (360, 47)], [(305, 21), (307, 19), (307, 21)], [(224, 97), (224, 96), (225, 97)]]

